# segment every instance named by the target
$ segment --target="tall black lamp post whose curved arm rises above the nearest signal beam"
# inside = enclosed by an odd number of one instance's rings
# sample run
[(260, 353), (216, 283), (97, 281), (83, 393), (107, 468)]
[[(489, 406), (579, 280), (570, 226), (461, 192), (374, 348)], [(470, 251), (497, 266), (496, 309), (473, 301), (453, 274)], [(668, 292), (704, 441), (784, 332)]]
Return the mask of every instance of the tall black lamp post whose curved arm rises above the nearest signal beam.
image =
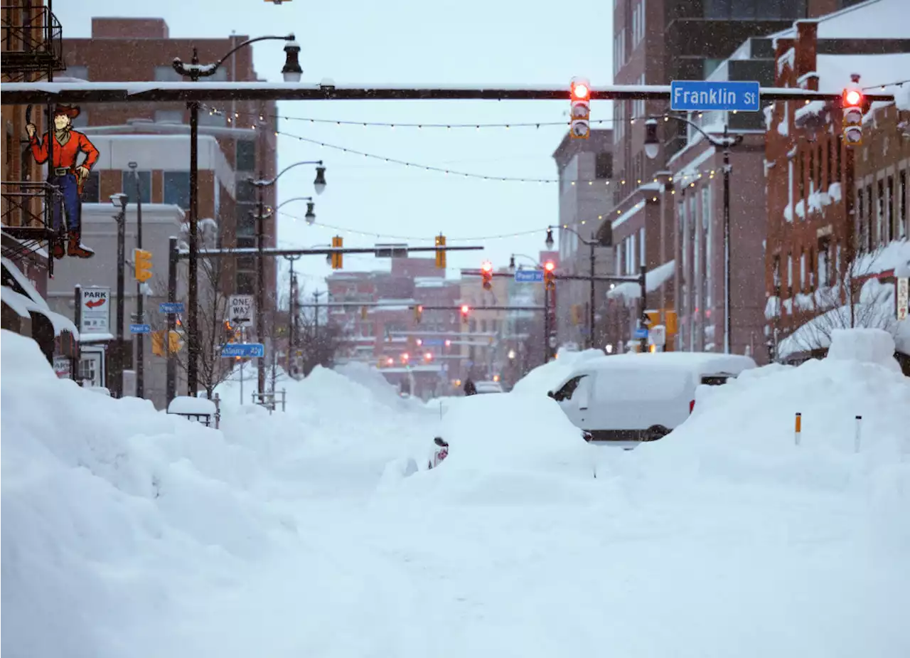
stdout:
[[(232, 56), (240, 48), (255, 44), (257, 41), (279, 40), (287, 41), (285, 46), (285, 66), (281, 69), (285, 82), (299, 82), (303, 70), (300, 68), (298, 55), (300, 46), (295, 41), (294, 35), (287, 36), (258, 36), (248, 39), (227, 51), (214, 64), (199, 64), (197, 48), (193, 48), (193, 59), (185, 64), (179, 57), (173, 61), (174, 70), (181, 76), (188, 77), (197, 82), (200, 77), (214, 76), (218, 68), (227, 57)], [(189, 245), (187, 254), (187, 393), (196, 396), (198, 388), (197, 366), (199, 357), (199, 339), (197, 333), (197, 305), (198, 305), (198, 229), (199, 229), (199, 103), (190, 101), (189, 106)], [(261, 364), (260, 364), (261, 365)], [(261, 387), (259, 392), (261, 393)]]

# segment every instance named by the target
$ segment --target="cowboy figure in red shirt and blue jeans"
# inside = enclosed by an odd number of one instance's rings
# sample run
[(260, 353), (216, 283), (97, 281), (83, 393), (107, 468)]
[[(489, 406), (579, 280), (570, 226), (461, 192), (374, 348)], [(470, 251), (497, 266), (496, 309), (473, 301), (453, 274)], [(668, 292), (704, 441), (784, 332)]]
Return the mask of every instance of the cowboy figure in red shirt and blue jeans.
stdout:
[[(82, 187), (88, 177), (88, 172), (98, 159), (98, 149), (92, 145), (88, 137), (73, 130), (73, 119), (79, 116), (76, 106), (58, 105), (54, 110), (54, 139), (56, 143), (52, 149), (54, 162), (48, 167), (47, 182), (59, 188), (63, 195), (63, 211), (66, 214), (66, 235), (69, 246), (66, 254), (77, 258), (91, 258), (95, 255), (92, 249), (82, 244)], [(44, 140), (39, 139), (35, 132), (35, 124), (26, 124), (25, 132), (28, 133), (28, 143), (32, 147), (32, 155), (39, 165), (47, 162), (47, 145), (51, 138), (48, 131)], [(85, 154), (82, 164), (77, 165), (76, 160), (80, 153)], [(61, 218), (60, 204), (54, 204), (54, 230), (59, 231), (63, 218)], [(51, 253), (54, 258), (64, 257), (64, 245), (59, 238), (51, 241)]]

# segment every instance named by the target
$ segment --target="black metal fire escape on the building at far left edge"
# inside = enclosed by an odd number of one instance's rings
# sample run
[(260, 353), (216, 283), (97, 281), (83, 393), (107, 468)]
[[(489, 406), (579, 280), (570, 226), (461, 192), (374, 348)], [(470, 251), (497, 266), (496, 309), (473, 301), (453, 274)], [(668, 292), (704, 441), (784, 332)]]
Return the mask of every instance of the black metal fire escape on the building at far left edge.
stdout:
[[(38, 4), (35, 0), (0, 0), (0, 85), (3, 82), (33, 82), (54, 80), (57, 71), (66, 70), (63, 59), (63, 28), (51, 11), (51, 0)], [(31, 119), (32, 107), (25, 110), (26, 120), (34, 121), (41, 131), (50, 125), (50, 104), (43, 114), (43, 121)], [(24, 127), (21, 127), (24, 130)], [(53, 139), (48, 140), (53, 149)], [(10, 142), (7, 142), (9, 144)], [(0, 241), (0, 256), (18, 260), (47, 248), (53, 238), (63, 238), (65, 222), (57, 230), (53, 224), (53, 208), (60, 208), (63, 217), (63, 197), (57, 187), (45, 181), (28, 180), (31, 159), (28, 137), (19, 137), (19, 178), (0, 180), (0, 234), (8, 239)], [(53, 162), (48, 154), (48, 163)], [(6, 176), (15, 176), (11, 154), (6, 157)], [(8, 244), (5, 244), (8, 243)], [(49, 252), (49, 249), (48, 249)], [(54, 276), (54, 258), (47, 254), (47, 272)]]

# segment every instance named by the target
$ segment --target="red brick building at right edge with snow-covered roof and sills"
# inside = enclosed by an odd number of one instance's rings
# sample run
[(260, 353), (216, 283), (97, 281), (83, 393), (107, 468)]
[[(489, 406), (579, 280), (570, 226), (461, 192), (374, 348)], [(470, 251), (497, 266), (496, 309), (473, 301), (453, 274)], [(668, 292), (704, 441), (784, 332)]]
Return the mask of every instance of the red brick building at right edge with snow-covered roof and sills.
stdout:
[[(776, 83), (839, 93), (852, 76), (860, 86), (904, 79), (910, 39), (883, 32), (880, 20), (883, 11), (897, 15), (901, 6), (872, 0), (798, 21), (776, 35)], [(852, 39), (843, 39), (844, 29)], [(864, 286), (869, 278), (891, 286), (893, 304), (895, 265), (910, 258), (910, 148), (905, 115), (894, 104), (866, 114), (864, 143), (854, 148), (844, 147), (839, 104), (778, 102), (766, 113), (766, 334), (769, 352), (789, 358), (826, 349), (838, 326), (890, 322), (878, 311), (857, 317), (857, 309), (871, 303), (866, 292), (873, 289)]]

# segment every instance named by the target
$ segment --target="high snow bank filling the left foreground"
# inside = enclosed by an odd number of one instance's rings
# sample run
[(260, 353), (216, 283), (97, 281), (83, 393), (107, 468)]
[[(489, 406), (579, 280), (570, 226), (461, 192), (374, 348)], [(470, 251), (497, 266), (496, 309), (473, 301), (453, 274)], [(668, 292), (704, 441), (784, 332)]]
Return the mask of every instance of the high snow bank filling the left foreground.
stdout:
[(173, 634), (170, 598), (217, 588), (274, 533), (296, 534), (250, 495), (248, 450), (58, 380), (34, 341), (5, 330), (0, 418), (6, 658), (154, 655), (158, 633)]

